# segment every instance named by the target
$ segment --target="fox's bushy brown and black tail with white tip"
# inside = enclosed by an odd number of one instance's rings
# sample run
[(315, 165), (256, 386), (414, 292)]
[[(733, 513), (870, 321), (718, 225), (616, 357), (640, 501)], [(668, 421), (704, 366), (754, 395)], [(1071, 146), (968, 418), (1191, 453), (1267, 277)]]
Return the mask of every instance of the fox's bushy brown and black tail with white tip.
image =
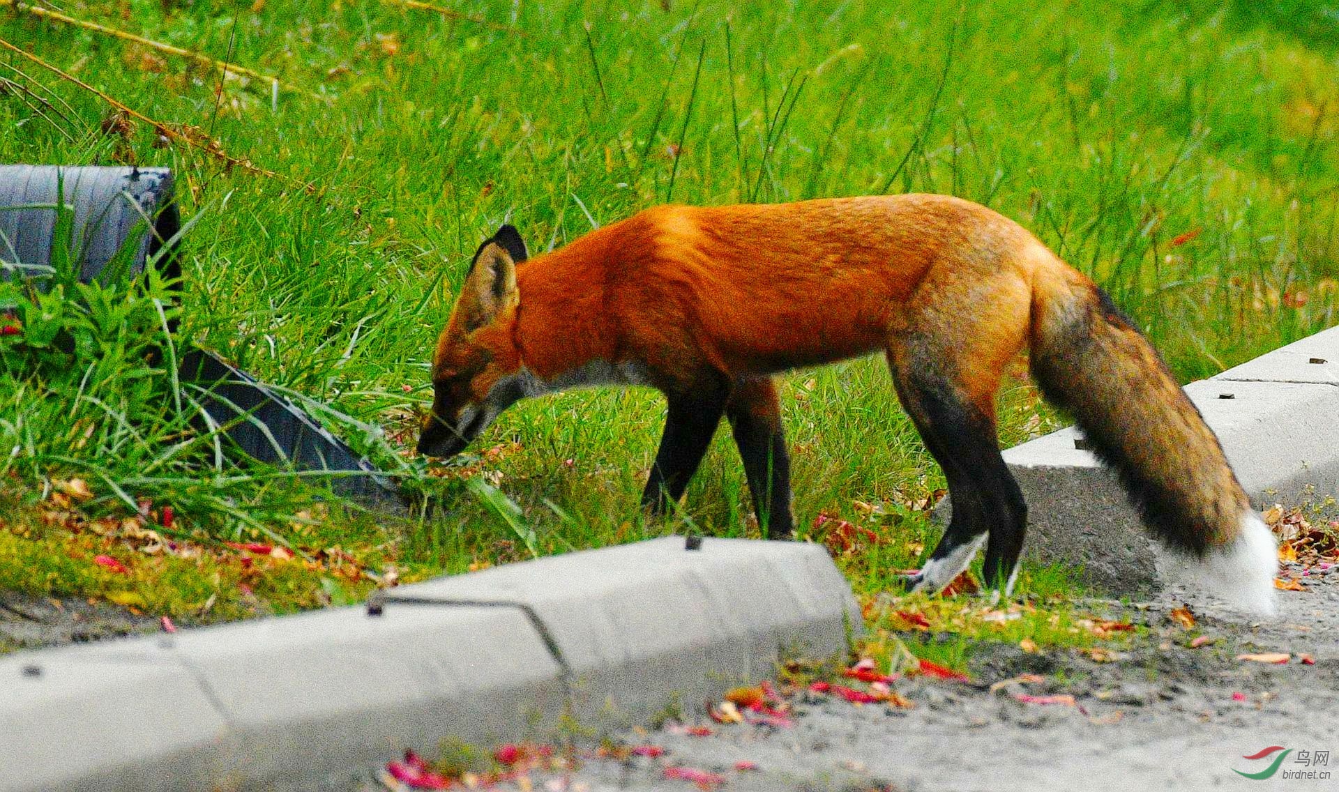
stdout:
[(1184, 570), (1239, 607), (1273, 611), (1273, 534), (1217, 436), (1130, 320), (1058, 260), (1032, 297), (1032, 373), (1115, 468), (1144, 523)]

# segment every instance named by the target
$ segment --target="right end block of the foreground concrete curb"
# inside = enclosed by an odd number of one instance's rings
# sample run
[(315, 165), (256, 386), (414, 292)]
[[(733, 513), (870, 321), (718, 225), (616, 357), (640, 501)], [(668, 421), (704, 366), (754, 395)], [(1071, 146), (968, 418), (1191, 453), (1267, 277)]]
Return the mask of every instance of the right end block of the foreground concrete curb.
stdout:
[(441, 598), (520, 599), (572, 668), (573, 714), (621, 728), (678, 702), (700, 712), (771, 676), (787, 653), (832, 657), (861, 629), (850, 589), (817, 544), (679, 536), (560, 555), (416, 586)]

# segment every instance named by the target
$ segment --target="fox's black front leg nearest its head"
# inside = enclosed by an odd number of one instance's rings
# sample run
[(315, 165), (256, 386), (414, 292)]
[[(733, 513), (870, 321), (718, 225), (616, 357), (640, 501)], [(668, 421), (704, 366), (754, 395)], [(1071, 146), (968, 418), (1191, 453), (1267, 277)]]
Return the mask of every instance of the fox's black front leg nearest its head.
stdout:
[(726, 389), (708, 388), (694, 395), (667, 395), (670, 401), (665, 431), (660, 437), (651, 478), (641, 492), (641, 504), (664, 514), (683, 495), (692, 474), (711, 444), (720, 415), (726, 409)]

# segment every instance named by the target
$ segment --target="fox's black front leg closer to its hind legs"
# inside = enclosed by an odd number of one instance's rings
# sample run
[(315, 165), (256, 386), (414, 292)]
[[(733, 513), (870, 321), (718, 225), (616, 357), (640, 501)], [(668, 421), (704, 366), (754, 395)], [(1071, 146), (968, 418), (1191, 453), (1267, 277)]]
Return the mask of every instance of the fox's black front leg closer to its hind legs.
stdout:
[(771, 380), (738, 383), (726, 404), (726, 417), (744, 463), (759, 526), (769, 539), (791, 538), (795, 522), (790, 512), (790, 455)]

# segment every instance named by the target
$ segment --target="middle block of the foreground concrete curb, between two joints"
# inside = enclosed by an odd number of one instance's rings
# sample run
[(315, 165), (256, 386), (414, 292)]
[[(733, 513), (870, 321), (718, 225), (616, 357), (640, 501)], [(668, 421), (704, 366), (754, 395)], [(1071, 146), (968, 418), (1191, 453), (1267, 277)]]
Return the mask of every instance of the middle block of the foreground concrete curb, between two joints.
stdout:
[(228, 716), (238, 788), (375, 764), (454, 732), (532, 737), (556, 728), (565, 701), (557, 664), (509, 610), (347, 607), (182, 633), (173, 652)]

